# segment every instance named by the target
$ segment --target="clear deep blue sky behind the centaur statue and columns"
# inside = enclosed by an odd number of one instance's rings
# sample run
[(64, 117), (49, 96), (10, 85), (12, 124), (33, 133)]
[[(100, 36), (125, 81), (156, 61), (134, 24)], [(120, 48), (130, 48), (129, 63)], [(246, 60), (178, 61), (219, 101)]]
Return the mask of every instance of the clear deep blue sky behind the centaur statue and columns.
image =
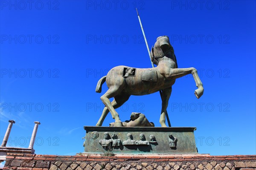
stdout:
[[(197, 68), (204, 84), (197, 99), (191, 75), (176, 80), (172, 126), (197, 127), (199, 153), (256, 154), (255, 1), (200, 2), (2, 0), (1, 142), (13, 119), (8, 146), (28, 147), (39, 121), (37, 154), (83, 152), (83, 126), (96, 125), (104, 107), (107, 86), (96, 93), (98, 80), (117, 65), (151, 67), (137, 7), (149, 47), (168, 35), (179, 68)], [(155, 93), (131, 96), (117, 112), (122, 121), (141, 112), (160, 126), (160, 110)]]

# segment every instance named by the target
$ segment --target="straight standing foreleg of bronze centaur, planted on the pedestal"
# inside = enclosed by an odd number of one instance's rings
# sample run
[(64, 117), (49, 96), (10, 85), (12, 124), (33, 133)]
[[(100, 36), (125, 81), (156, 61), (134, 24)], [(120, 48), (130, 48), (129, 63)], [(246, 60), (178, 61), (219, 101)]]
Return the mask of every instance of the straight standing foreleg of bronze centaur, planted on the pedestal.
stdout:
[(166, 126), (166, 109), (168, 106), (168, 102), (169, 102), (169, 98), (171, 96), (172, 93), (172, 87), (171, 88), (166, 88), (162, 90), (162, 95), (161, 95), (161, 99), (162, 99), (162, 110), (161, 110), (161, 115), (160, 115), (160, 124), (162, 127), (167, 127)]

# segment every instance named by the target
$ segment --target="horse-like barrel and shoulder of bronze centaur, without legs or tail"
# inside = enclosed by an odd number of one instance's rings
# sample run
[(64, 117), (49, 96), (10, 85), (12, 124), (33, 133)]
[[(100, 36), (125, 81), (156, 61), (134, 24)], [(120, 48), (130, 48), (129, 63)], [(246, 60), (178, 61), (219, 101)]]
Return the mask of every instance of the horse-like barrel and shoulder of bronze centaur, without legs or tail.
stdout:
[(116, 85), (116, 88), (122, 88), (124, 93), (140, 96), (170, 88), (175, 83), (175, 79), (170, 76), (172, 68), (177, 68), (172, 59), (159, 62), (155, 68), (133, 68), (135, 74), (128, 77), (125, 77), (126, 68), (131, 67), (116, 66), (108, 72), (108, 87)]

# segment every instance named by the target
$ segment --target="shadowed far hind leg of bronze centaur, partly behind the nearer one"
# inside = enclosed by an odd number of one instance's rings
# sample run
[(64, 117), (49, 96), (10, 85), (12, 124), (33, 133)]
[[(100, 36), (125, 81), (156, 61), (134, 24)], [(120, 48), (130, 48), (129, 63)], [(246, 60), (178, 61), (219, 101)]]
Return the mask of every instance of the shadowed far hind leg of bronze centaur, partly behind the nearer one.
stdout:
[[(111, 102), (111, 105), (113, 106), (114, 109), (119, 108), (120, 106), (122, 106), (129, 99), (130, 96), (131, 95), (128, 95), (128, 94), (121, 94), (119, 96), (115, 96), (115, 98)], [(105, 120), (105, 118), (108, 115), (108, 113), (109, 113), (109, 110), (105, 106), (105, 108), (102, 111), (102, 115), (99, 118), (99, 121), (96, 124), (96, 126), (102, 126), (102, 123)], [(114, 117), (113, 117), (113, 119), (114, 119)]]

